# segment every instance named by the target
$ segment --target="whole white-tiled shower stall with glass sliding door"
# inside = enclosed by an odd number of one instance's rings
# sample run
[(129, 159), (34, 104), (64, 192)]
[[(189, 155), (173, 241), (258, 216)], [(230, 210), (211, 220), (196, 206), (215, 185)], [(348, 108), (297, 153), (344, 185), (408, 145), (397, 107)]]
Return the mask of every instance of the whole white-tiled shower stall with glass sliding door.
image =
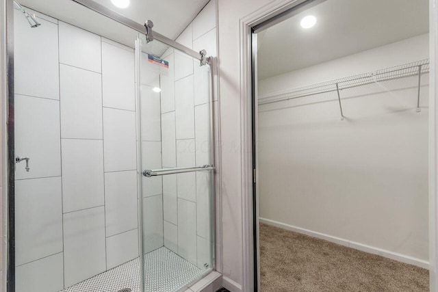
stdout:
[(215, 268), (214, 58), (98, 1), (5, 2), (3, 291), (185, 291)]

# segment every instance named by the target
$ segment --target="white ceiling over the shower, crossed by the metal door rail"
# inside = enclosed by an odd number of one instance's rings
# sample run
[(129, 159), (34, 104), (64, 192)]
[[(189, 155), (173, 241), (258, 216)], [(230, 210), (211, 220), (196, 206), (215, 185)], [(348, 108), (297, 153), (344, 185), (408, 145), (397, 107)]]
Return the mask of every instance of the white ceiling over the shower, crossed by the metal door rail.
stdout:
[[(110, 0), (94, 1), (141, 24), (150, 19), (154, 23), (155, 31), (175, 40), (209, 0), (131, 0), (131, 5), (126, 9), (116, 8)], [(129, 47), (134, 45), (136, 31), (92, 12), (73, 0), (18, 0), (18, 2), (27, 8)]]

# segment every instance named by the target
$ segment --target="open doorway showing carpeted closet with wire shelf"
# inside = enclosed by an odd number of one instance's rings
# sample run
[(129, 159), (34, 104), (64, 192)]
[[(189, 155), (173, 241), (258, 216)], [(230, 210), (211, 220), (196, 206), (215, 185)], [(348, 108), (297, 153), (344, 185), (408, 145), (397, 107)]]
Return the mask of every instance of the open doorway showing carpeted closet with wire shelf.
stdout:
[(307, 1), (254, 27), (259, 291), (429, 291), (428, 5)]

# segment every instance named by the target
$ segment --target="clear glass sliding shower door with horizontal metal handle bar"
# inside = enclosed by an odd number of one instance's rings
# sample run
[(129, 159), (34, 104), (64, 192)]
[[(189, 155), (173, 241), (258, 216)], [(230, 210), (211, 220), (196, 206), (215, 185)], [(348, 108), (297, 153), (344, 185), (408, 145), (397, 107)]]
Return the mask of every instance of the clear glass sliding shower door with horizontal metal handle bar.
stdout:
[(144, 291), (185, 290), (214, 267), (211, 70), (139, 38)]

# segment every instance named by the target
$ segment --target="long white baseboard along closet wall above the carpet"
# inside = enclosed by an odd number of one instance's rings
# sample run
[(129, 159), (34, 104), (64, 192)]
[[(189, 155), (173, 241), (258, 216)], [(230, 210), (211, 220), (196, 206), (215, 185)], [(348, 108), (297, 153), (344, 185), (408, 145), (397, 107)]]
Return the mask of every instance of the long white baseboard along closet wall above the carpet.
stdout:
[(394, 261), (400, 261), (402, 263), (407, 263), (409, 265), (416, 265), (417, 267), (422, 267), (424, 269), (429, 269), (429, 262), (424, 261), (420, 258), (414, 258), (412, 256), (406, 256), (404, 254), (398, 254), (397, 252), (391, 252), (389, 250), (383, 250), (381, 248), (376, 248), (374, 246), (366, 245), (363, 243), (349, 241), (347, 239), (342, 239), (339, 237), (334, 237), (331, 235), (326, 235), (324, 233), (317, 233), (315, 231), (311, 231), (305, 228), (300, 228), (296, 226), (292, 226), (289, 224), (276, 222), (274, 220), (269, 220), (266, 218), (259, 218), (259, 221), (264, 224), (268, 224), (271, 226), (283, 228), (286, 230), (294, 231), (296, 233), (302, 233), (304, 235), (309, 235), (311, 237), (316, 237), (319, 239), (324, 239), (326, 241), (331, 241), (333, 243), (337, 243), (340, 245), (347, 246), (348, 248), (354, 248), (355, 250), (361, 250), (362, 252), (368, 252), (370, 254), (378, 254), (379, 256), (384, 256), (385, 258), (391, 258)]

